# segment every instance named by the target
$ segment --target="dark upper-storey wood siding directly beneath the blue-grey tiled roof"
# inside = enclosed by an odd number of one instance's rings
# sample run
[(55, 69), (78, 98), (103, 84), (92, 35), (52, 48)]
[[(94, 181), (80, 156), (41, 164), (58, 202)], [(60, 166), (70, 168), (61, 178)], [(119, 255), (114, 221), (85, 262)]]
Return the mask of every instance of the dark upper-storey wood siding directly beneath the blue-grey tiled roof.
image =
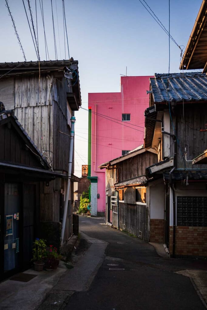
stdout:
[[(176, 106), (175, 112), (177, 117), (177, 138), (180, 144), (180, 147), (177, 146), (177, 168), (207, 169), (207, 165), (192, 165), (192, 162), (185, 162), (184, 165), (182, 157), (182, 154), (185, 153), (185, 147), (187, 160), (192, 160), (207, 148), (207, 131), (200, 131), (200, 129), (206, 129), (207, 105), (200, 103), (184, 104), (184, 117), (182, 104)], [(174, 133), (173, 128), (171, 128), (171, 132)], [(173, 144), (171, 138), (171, 153), (173, 153)]]

